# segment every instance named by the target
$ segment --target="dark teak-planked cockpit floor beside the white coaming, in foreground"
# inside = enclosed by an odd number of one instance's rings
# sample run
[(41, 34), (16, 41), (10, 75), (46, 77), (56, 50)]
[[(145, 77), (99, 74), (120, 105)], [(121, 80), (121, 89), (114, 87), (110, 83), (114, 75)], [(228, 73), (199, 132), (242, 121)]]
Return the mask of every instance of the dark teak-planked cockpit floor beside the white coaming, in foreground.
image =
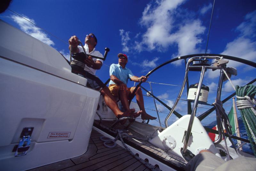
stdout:
[[(81, 156), (52, 163), (42, 167), (31, 169), (40, 170), (118, 170), (118, 171), (148, 171), (140, 161), (134, 158), (120, 145), (115, 148), (107, 148), (103, 145), (100, 137), (103, 136), (96, 130), (92, 130), (88, 151)], [(154, 167), (154, 166), (153, 166)], [(160, 170), (154, 167), (156, 170)]]

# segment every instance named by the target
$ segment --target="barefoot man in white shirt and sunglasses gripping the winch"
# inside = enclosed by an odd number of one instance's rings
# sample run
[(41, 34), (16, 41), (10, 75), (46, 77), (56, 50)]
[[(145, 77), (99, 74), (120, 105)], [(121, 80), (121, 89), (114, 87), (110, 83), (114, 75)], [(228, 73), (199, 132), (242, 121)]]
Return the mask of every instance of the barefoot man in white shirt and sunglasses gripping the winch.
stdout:
[[(69, 49), (71, 48), (72, 53), (84, 52), (83, 48), (81, 46), (78, 46), (79, 42), (77, 40), (78, 38), (76, 36), (72, 36), (68, 40)], [(126, 110), (125, 112), (120, 111), (117, 106), (116, 100), (114, 96), (110, 93), (108, 87), (104, 85), (104, 83), (100, 80), (100, 78), (95, 76), (96, 70), (99, 70), (102, 66), (102, 60), (92, 58), (92, 56), (103, 57), (99, 51), (95, 50), (96, 45), (97, 45), (97, 38), (95, 37), (95, 35), (92, 33), (87, 34), (85, 37), (84, 49), (88, 54), (88, 58), (84, 60), (84, 63), (77, 60), (73, 60), (71, 62), (72, 72), (86, 78), (87, 86), (90, 88), (93, 88), (95, 90), (100, 90), (100, 88), (103, 87), (100, 93), (101, 95), (104, 96), (104, 100), (107, 106), (113, 111), (113, 113), (116, 115), (117, 118), (120, 118), (123, 116), (138, 117), (142, 111), (139, 111), (136, 113), (134, 113), (135, 109)]]

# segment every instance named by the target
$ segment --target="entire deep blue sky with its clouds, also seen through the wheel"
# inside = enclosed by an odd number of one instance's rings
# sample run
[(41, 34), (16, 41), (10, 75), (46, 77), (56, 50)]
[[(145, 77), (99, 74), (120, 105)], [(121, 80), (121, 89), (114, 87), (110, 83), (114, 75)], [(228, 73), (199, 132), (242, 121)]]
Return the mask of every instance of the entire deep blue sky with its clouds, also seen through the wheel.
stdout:
[[(108, 0), (108, 1), (71, 1), (71, 0), (13, 0), (9, 9), (27, 18), (47, 32), (6, 10), (0, 19), (36, 37), (60, 51), (68, 58), (68, 39), (76, 35), (84, 42), (85, 35), (94, 33), (98, 39), (96, 49), (104, 54), (110, 48), (107, 60), (96, 75), (104, 82), (109, 78), (109, 66), (117, 63), (118, 53), (128, 56), (127, 67), (136, 76), (146, 75), (148, 71), (174, 57), (204, 53), (212, 13), (213, 0)], [(256, 2), (253, 0), (216, 0), (212, 27), (209, 36), (208, 53), (241, 57), (256, 62)], [(54, 36), (58, 37), (58, 39)], [(25, 41), (25, 40), (24, 40)], [(231, 80), (234, 85), (243, 86), (255, 78), (255, 69), (234, 61), (238, 75)], [(190, 84), (199, 81), (198, 72), (189, 73)], [(148, 81), (181, 85), (184, 77), (184, 63), (169, 64), (152, 75)], [(208, 103), (214, 102), (218, 81), (218, 71), (207, 71), (203, 83), (210, 87)], [(132, 86), (129, 82), (128, 86)], [(142, 84), (150, 90), (148, 83)], [(151, 83), (156, 96), (165, 99), (170, 107), (180, 90), (179, 86)], [(222, 99), (233, 93), (231, 84), (223, 84)], [(145, 92), (144, 92), (145, 94)], [(186, 99), (186, 92), (183, 93)], [(145, 107), (155, 109), (153, 99), (144, 97)], [(169, 101), (166, 101), (169, 100)], [(226, 111), (232, 102), (224, 104)], [(196, 115), (203, 113), (209, 106), (199, 105)], [(161, 122), (168, 113), (157, 104)], [(186, 101), (177, 107), (180, 114), (187, 113)], [(147, 110), (151, 115), (156, 112)], [(173, 115), (169, 124), (176, 121)], [(215, 119), (214, 112), (202, 123), (208, 124)], [(157, 121), (151, 124), (159, 125)]]

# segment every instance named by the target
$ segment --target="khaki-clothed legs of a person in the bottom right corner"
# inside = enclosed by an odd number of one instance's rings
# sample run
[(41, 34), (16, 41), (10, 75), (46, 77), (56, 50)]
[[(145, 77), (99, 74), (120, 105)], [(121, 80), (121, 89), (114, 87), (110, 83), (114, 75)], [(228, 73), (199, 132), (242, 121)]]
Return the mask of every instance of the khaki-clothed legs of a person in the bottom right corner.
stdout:
[(225, 161), (208, 150), (202, 150), (187, 163), (186, 170), (256, 170), (256, 159), (239, 156), (236, 159)]

